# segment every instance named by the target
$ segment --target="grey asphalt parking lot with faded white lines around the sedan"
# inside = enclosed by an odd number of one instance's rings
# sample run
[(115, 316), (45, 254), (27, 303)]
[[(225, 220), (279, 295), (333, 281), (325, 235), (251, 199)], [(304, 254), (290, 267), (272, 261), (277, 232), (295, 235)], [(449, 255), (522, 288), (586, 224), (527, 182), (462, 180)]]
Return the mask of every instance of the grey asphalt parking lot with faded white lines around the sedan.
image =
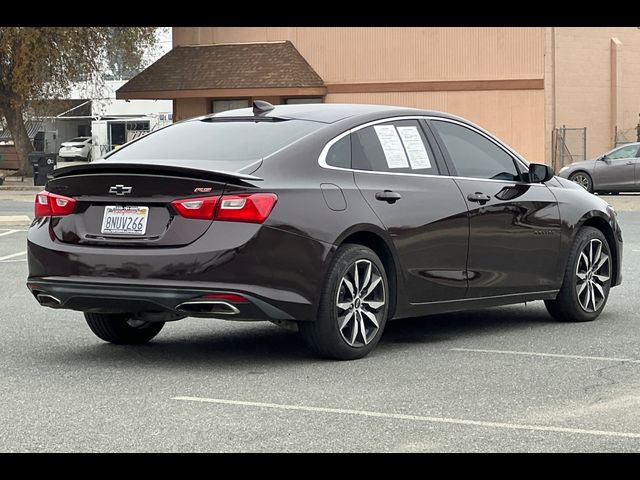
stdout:
[(27, 227), (0, 225), (0, 451), (638, 452), (640, 197), (614, 200), (624, 280), (597, 321), (541, 302), (402, 320), (354, 362), (269, 323), (103, 343), (82, 314), (37, 305)]

